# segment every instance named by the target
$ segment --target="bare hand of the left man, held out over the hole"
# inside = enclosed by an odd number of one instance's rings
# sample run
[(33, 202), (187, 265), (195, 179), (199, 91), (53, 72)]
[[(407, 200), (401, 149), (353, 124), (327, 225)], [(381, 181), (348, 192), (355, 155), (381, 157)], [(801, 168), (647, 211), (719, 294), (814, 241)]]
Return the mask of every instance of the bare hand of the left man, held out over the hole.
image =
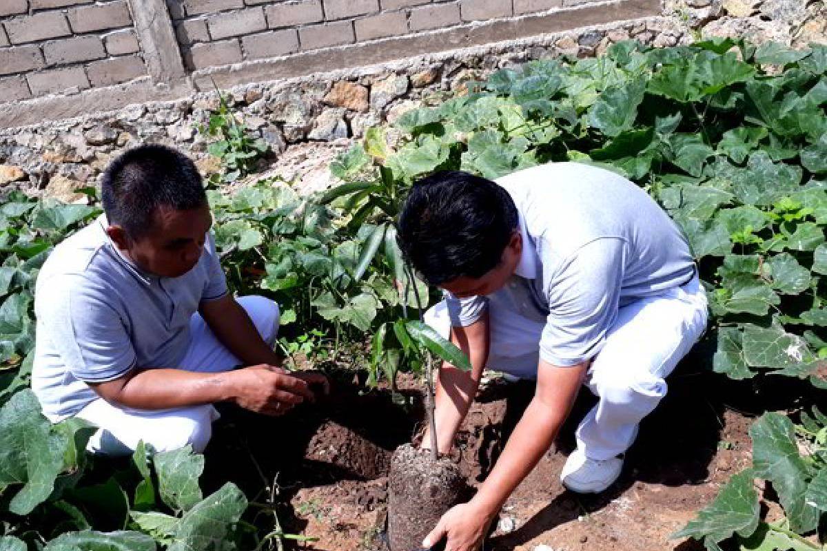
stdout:
[(305, 400), (315, 400), (308, 382), (266, 363), (233, 371), (232, 386), (233, 401), (268, 416), (280, 416)]

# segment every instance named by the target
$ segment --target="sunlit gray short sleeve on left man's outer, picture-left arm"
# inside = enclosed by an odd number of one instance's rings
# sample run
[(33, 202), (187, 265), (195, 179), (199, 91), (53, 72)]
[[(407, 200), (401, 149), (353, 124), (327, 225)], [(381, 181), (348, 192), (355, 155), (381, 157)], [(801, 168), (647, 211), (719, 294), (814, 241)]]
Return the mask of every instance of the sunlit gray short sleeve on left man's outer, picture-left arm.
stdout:
[(82, 282), (67, 278), (37, 297), (38, 338), (49, 339), (69, 373), (81, 381), (121, 378), (137, 361), (127, 328), (109, 303), (110, 293)]

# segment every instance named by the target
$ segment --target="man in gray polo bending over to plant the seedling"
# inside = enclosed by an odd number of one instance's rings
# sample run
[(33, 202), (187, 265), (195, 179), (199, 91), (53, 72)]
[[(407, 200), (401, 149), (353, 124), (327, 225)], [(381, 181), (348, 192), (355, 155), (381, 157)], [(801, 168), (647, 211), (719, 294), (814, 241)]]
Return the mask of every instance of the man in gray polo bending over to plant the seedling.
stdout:
[(681, 231), (640, 188), (586, 164), (546, 164), (497, 183), (461, 172), (414, 185), (399, 220), (414, 268), (446, 292), (426, 321), (461, 347), (471, 373), (443, 364), (437, 442), (447, 452), (485, 368), (537, 380), (503, 454), (423, 547), (477, 549), (490, 521), (546, 453), (581, 384), (598, 404), (562, 469), (575, 492), (620, 474), (638, 423), (706, 324), (706, 297)]

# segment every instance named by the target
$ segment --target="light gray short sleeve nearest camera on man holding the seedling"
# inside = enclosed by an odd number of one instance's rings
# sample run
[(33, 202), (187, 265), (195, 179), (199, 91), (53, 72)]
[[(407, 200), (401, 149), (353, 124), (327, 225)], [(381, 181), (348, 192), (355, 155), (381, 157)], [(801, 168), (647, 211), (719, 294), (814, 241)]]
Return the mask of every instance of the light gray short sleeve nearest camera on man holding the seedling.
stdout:
[(618, 316), (625, 243), (591, 241), (571, 255), (548, 288), (540, 358), (560, 367), (593, 359)]

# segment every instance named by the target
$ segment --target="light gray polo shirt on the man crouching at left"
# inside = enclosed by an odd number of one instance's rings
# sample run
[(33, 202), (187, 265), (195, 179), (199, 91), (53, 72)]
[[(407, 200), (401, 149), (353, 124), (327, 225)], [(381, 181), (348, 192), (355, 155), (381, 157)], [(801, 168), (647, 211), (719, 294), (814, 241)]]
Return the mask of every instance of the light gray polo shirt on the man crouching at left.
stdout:
[(51, 420), (97, 398), (87, 382), (136, 367), (175, 368), (189, 346), (201, 302), (227, 294), (213, 239), (179, 278), (144, 273), (118, 251), (101, 216), (64, 240), (37, 278), (37, 339), (31, 387)]

